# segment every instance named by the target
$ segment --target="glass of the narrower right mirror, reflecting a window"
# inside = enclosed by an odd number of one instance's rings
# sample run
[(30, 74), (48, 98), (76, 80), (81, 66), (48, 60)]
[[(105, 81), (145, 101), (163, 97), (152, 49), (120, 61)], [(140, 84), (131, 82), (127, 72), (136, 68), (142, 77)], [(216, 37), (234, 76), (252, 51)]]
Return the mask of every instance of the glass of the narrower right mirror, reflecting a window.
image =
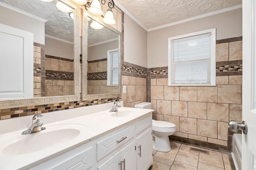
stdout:
[(87, 94), (119, 93), (119, 34), (88, 18)]

